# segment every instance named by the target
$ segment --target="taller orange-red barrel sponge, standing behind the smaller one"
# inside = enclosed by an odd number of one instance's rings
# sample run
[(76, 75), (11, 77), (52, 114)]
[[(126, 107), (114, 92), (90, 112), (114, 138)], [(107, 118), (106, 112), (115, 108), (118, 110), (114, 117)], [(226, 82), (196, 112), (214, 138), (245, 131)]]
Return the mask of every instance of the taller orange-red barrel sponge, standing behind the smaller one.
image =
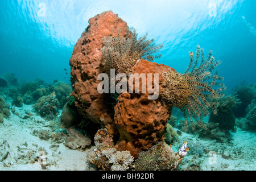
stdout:
[(127, 23), (112, 11), (96, 15), (89, 19), (89, 26), (77, 41), (69, 65), (71, 66), (71, 82), (76, 99), (76, 107), (86, 118), (97, 123), (104, 123), (109, 133), (113, 133), (113, 117), (104, 105), (104, 94), (97, 91), (101, 81), (97, 76), (104, 72), (101, 48), (103, 38), (109, 36), (129, 37), (131, 32)]

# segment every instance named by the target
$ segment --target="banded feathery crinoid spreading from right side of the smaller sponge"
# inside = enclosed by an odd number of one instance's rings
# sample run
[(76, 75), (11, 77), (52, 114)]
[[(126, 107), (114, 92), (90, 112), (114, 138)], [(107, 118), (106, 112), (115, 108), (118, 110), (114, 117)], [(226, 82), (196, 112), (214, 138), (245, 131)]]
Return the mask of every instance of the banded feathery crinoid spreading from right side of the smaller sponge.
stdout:
[(165, 73), (162, 100), (167, 105), (178, 107), (183, 111), (184, 130), (187, 130), (188, 117), (192, 130), (195, 130), (193, 119), (200, 127), (204, 127), (203, 116), (209, 115), (210, 108), (214, 114), (217, 113), (216, 99), (223, 96), (222, 91), (226, 87), (222, 82), (218, 82), (218, 80), (224, 80), (223, 77), (218, 76), (218, 71), (211, 75), (214, 68), (221, 63), (221, 61), (214, 62), (212, 51), (209, 51), (205, 60), (204, 49), (197, 46), (196, 59), (192, 51), (189, 52), (189, 57), (189, 65), (183, 75), (174, 71)]

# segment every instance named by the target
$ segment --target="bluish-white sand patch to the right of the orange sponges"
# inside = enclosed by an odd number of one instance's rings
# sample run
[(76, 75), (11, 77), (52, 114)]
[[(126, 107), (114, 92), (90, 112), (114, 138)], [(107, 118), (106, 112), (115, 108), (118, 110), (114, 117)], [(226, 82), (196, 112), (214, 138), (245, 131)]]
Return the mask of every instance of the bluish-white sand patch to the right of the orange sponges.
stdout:
[[(203, 155), (197, 157), (191, 154), (193, 148), (189, 148), (188, 155), (181, 163), (181, 169), (191, 169), (194, 164), (200, 166), (203, 171), (255, 171), (256, 136), (255, 133), (237, 129), (236, 133), (230, 133), (228, 143), (217, 143), (210, 139), (200, 139), (197, 136), (183, 133), (179, 141), (192, 140), (203, 144)], [(188, 142), (189, 147), (189, 142)], [(172, 146), (176, 152), (179, 149), (178, 143)], [(187, 168), (188, 167), (188, 168)]]

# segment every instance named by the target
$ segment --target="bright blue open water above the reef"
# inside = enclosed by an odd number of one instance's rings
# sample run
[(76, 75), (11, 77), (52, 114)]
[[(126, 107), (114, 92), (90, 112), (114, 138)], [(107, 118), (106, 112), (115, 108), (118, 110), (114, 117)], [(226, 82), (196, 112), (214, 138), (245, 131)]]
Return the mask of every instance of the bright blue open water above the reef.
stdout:
[(183, 73), (197, 44), (221, 60), (225, 85), (255, 82), (254, 0), (0, 1), (0, 75), (69, 82), (69, 59), (88, 19), (112, 10), (139, 35), (163, 43), (164, 63)]

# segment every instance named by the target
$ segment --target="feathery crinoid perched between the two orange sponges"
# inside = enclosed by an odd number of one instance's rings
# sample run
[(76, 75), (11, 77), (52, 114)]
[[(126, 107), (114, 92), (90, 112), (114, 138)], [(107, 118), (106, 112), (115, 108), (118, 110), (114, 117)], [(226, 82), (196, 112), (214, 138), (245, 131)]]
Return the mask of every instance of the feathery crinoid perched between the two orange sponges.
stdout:
[(131, 38), (109, 36), (104, 38), (104, 47), (102, 47), (102, 55), (105, 62), (105, 71), (110, 76), (110, 69), (115, 69), (115, 74), (131, 73), (131, 67), (134, 66), (138, 59), (146, 59), (153, 61), (161, 55), (155, 55), (161, 45), (155, 45), (154, 39), (146, 40), (147, 34), (137, 39), (137, 33), (134, 28), (131, 29)]

